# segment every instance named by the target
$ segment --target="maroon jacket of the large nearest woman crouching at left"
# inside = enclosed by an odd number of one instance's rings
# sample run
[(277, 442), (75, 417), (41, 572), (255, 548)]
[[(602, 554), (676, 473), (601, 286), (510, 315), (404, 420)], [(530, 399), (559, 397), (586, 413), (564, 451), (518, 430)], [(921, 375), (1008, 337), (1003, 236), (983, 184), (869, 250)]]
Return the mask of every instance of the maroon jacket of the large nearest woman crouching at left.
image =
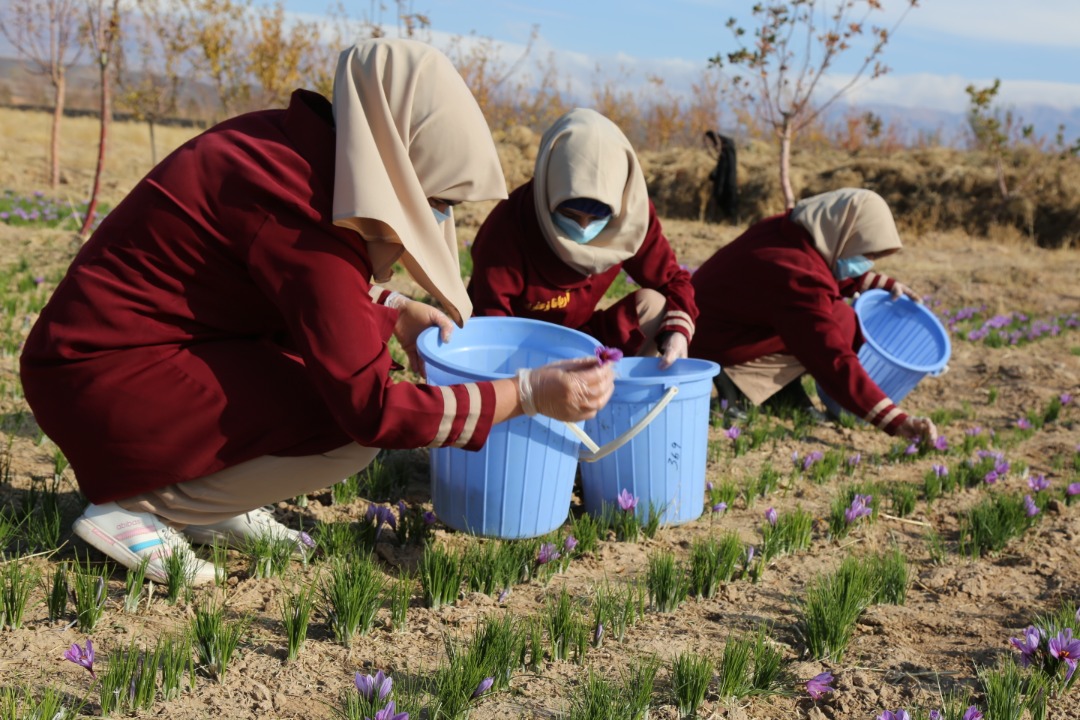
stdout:
[(173, 152), (81, 249), (22, 378), (92, 502), (352, 440), (483, 445), (490, 383), (477, 408), (462, 385), (390, 378), (397, 313), (330, 222), (334, 144), (329, 103), (297, 91)]

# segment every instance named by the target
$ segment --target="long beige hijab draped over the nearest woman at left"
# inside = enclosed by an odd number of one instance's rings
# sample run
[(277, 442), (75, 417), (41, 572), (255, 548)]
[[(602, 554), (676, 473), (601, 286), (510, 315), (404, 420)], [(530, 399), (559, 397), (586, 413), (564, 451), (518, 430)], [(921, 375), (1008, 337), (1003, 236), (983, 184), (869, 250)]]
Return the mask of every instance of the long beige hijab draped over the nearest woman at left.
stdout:
[(507, 196), (480, 106), (449, 58), (415, 40), (379, 38), (338, 58), (334, 223), (364, 236), (376, 282), (401, 259), (458, 325), (472, 314), (453, 218), (429, 198)]

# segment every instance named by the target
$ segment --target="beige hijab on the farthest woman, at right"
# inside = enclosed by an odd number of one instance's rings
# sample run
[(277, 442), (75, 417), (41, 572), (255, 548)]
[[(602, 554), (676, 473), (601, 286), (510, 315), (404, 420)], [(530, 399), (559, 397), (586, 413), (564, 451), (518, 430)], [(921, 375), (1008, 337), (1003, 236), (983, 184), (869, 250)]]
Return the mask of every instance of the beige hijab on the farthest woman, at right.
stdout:
[(829, 269), (840, 258), (901, 248), (889, 205), (870, 190), (842, 188), (795, 204), (792, 220), (813, 236)]

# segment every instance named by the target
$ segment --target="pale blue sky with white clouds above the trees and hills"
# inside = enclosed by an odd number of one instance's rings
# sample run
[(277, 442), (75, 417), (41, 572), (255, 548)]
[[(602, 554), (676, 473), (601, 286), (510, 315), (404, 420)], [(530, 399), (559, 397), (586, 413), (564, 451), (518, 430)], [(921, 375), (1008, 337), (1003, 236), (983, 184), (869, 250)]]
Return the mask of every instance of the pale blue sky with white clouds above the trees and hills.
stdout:
[[(393, 22), (394, 2), (373, 19)], [(475, 31), (508, 43), (508, 53), (540, 39), (532, 63), (555, 52), (565, 76), (588, 89), (596, 67), (644, 81), (657, 74), (670, 87), (688, 89), (718, 52), (734, 47), (728, 17), (751, 17), (754, 0), (410, 0), (427, 14), (437, 45), (442, 33)], [(264, 4), (269, 4), (266, 2)], [(321, 15), (328, 0), (286, 0), (291, 12)], [(353, 17), (367, 2), (347, 3)], [(378, 4), (377, 2), (374, 4)], [(829, 6), (833, 2), (829, 0)], [(906, 0), (882, 0), (875, 24), (891, 27)], [(851, 99), (904, 107), (962, 111), (969, 83), (1000, 78), (1008, 105), (1080, 109), (1080, 1), (920, 0), (889, 42), (883, 59), (891, 72), (863, 85)], [(848, 59), (860, 59), (852, 51)], [(836, 82), (853, 71), (836, 67)], [(1080, 131), (1071, 128), (1074, 134)]]

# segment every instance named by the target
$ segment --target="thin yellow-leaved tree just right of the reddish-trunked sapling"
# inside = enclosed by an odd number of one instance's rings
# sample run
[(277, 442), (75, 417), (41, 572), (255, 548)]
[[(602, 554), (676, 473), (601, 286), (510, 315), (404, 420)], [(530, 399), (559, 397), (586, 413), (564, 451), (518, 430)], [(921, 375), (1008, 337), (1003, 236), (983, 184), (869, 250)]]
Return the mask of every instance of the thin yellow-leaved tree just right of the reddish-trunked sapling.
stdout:
[[(117, 105), (147, 124), (150, 164), (158, 164), (154, 126), (176, 113), (184, 58), (190, 43), (184, 26), (166, 12), (166, 0), (141, 0), (123, 29), (130, 42), (117, 47)], [(137, 59), (130, 59), (132, 47)]]

